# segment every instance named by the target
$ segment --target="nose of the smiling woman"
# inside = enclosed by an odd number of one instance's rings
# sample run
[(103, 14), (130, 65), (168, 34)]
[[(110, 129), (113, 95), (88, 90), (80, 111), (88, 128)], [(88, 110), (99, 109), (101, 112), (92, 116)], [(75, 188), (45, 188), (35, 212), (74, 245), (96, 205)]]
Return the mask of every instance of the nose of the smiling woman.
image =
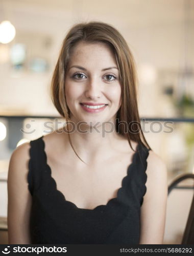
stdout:
[(97, 79), (95, 80), (91, 79), (90, 81), (88, 80), (86, 84), (86, 89), (85, 89), (85, 96), (87, 98), (95, 100), (101, 97), (101, 93), (102, 93), (101, 82), (97, 81)]

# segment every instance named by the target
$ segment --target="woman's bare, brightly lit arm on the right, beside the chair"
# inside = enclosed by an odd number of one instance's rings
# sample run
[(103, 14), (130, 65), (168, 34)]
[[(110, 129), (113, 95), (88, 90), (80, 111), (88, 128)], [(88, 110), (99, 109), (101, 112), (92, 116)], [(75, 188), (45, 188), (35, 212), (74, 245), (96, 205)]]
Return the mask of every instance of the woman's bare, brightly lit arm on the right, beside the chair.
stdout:
[(162, 244), (167, 202), (167, 170), (163, 160), (153, 151), (147, 158), (147, 191), (140, 214), (139, 244)]

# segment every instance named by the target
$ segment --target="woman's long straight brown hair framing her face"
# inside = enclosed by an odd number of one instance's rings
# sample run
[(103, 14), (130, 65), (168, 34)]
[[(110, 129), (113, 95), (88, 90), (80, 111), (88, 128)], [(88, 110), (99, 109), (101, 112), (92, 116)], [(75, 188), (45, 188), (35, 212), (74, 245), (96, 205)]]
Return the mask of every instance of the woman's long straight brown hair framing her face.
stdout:
[[(107, 23), (95, 21), (79, 23), (75, 24), (68, 31), (62, 43), (51, 83), (51, 98), (56, 109), (68, 123), (70, 111), (65, 98), (65, 73), (71, 53), (80, 41), (104, 42), (112, 50), (117, 63), (120, 83), (122, 86), (122, 105), (116, 114), (116, 132), (127, 137), (131, 148), (132, 145), (130, 140), (132, 139), (137, 143), (146, 145), (146, 147), (152, 150), (141, 130), (137, 106), (137, 74), (133, 55), (124, 37), (114, 27)], [(125, 130), (126, 124), (127, 132)], [(136, 131), (135, 133), (134, 130)], [(74, 146), (71, 143), (69, 133), (68, 138), (70, 145), (76, 153)], [(77, 153), (76, 155), (78, 156)]]

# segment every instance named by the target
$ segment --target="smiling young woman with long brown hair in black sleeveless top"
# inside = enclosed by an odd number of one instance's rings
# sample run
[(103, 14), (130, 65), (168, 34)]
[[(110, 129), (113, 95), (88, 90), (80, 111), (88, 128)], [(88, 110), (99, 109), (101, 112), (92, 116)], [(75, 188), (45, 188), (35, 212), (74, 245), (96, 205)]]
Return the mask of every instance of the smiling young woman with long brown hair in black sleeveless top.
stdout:
[(69, 30), (51, 86), (67, 122), (10, 159), (10, 244), (162, 244), (166, 167), (143, 136), (136, 83), (115, 28)]

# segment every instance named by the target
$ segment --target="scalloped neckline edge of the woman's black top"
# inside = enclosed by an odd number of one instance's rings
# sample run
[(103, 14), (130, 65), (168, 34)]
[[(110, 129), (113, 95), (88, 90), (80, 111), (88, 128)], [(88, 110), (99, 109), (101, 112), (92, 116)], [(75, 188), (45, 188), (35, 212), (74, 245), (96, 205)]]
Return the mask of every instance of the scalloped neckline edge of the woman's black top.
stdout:
[(45, 166), (47, 167), (47, 169), (49, 170), (49, 178), (51, 179), (51, 181), (53, 182), (54, 184), (54, 187), (55, 187), (55, 191), (63, 198), (64, 202), (70, 204), (71, 206), (73, 206), (74, 208), (78, 209), (78, 210), (86, 210), (86, 211), (94, 211), (96, 209), (99, 209), (101, 207), (105, 208), (107, 207), (111, 202), (115, 201), (115, 200), (118, 200), (118, 195), (120, 193), (120, 191), (123, 190), (123, 185), (124, 185), (124, 180), (127, 179), (127, 177), (129, 176), (129, 174), (131, 173), (131, 170), (133, 169), (133, 166), (134, 166), (134, 161), (135, 161), (135, 157), (137, 156), (137, 154), (139, 153), (139, 143), (137, 143), (136, 145), (136, 151), (133, 153), (132, 155), (132, 161), (131, 163), (128, 165), (127, 167), (127, 172), (126, 172), (126, 175), (123, 177), (122, 179), (122, 182), (121, 182), (121, 186), (117, 189), (117, 193), (116, 193), (116, 197), (114, 198), (111, 198), (108, 200), (108, 202), (106, 204), (101, 204), (101, 205), (97, 205), (95, 208), (93, 209), (88, 209), (88, 208), (80, 208), (78, 207), (75, 203), (71, 202), (71, 201), (68, 201), (66, 200), (65, 198), (65, 195), (57, 189), (57, 183), (55, 181), (55, 179), (53, 178), (52, 176), (52, 169), (50, 167), (50, 165), (48, 165), (47, 163), (47, 155), (46, 155), (46, 152), (45, 152), (45, 142), (43, 140), (43, 137), (44, 136), (41, 136), (40, 139), (42, 141), (42, 146), (43, 146), (43, 154), (44, 154), (44, 163), (45, 163)]

